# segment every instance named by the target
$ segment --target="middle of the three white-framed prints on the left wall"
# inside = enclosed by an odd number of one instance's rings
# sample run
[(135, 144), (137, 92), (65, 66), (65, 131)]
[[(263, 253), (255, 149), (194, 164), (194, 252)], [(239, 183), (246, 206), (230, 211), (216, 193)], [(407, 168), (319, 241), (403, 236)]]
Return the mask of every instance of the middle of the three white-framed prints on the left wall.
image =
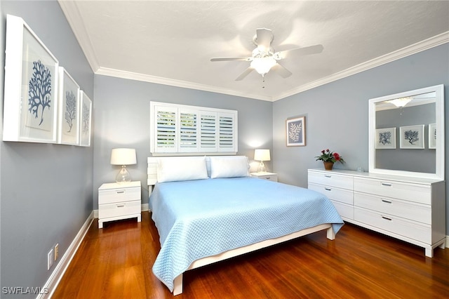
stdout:
[(79, 85), (59, 67), (58, 143), (78, 145), (79, 142)]

